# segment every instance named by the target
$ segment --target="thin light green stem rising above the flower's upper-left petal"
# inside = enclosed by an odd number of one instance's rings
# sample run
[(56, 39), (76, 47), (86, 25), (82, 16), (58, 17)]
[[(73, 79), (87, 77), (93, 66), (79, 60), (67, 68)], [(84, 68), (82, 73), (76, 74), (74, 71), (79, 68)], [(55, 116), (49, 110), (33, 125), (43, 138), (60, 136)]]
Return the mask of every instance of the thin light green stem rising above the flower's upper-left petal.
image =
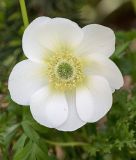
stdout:
[(19, 3), (20, 3), (20, 7), (21, 7), (21, 13), (22, 13), (24, 26), (26, 28), (29, 24), (29, 21), (28, 21), (28, 15), (27, 15), (27, 10), (26, 10), (25, 0), (19, 0)]

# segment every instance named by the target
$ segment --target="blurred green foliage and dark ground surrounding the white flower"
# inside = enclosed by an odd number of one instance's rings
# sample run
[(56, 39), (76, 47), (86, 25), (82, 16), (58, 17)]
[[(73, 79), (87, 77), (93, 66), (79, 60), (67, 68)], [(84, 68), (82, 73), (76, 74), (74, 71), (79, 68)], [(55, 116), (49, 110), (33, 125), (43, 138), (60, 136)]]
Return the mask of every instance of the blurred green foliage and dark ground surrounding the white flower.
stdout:
[(7, 89), (13, 66), (25, 59), (18, 0), (0, 0), (0, 160), (136, 160), (136, 0), (26, 0), (29, 21), (66, 17), (80, 26), (99, 23), (116, 33), (111, 57), (125, 84), (110, 112), (75, 132), (59, 132), (33, 120)]

